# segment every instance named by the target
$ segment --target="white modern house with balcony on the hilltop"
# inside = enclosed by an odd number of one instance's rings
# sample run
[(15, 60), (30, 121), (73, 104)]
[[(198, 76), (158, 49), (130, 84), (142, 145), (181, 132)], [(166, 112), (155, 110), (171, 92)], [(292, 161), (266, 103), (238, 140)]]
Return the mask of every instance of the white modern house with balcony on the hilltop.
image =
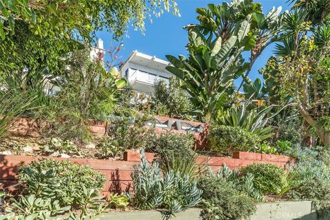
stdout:
[(150, 95), (157, 80), (164, 80), (168, 83), (169, 78), (173, 76), (165, 69), (168, 65), (170, 65), (168, 61), (135, 50), (120, 67), (120, 77), (126, 78), (129, 85), (138, 94)]

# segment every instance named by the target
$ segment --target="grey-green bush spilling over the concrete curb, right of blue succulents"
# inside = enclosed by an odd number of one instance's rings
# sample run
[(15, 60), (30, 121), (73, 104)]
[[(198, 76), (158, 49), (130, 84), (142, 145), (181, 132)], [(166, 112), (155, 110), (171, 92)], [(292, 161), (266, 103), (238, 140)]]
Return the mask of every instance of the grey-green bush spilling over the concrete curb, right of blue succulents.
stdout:
[(197, 186), (203, 190), (203, 220), (248, 219), (256, 211), (253, 199), (215, 176), (201, 176)]

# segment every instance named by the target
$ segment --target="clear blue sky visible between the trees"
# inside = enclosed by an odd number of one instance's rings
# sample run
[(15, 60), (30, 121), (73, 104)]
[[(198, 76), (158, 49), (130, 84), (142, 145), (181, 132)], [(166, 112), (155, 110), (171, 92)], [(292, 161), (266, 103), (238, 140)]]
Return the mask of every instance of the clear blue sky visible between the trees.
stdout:
[[(262, 3), (264, 12), (268, 12), (273, 6), (276, 8), (282, 6), (284, 12), (289, 9), (286, 1), (287, 0), (259, 0), (255, 2)], [(120, 51), (119, 56), (122, 57), (122, 61), (126, 61), (126, 58), (129, 57), (129, 54), (131, 54), (133, 50), (164, 60), (166, 60), (165, 56), (167, 54), (173, 56), (179, 54), (186, 55), (187, 52), (184, 47), (188, 42), (188, 35), (182, 27), (189, 23), (196, 23), (196, 8), (206, 7), (208, 3), (219, 4), (222, 2), (223, 0), (177, 0), (181, 17), (175, 17), (170, 13), (165, 13), (162, 17), (154, 18), (153, 23), (146, 21), (146, 31), (144, 35), (142, 35), (140, 31), (134, 31), (133, 28), (129, 28), (129, 38), (124, 37), (124, 47)], [(111, 39), (111, 33), (98, 32), (97, 36), (104, 41), (105, 49), (109, 49), (111, 44), (115, 45), (115, 42)], [(270, 45), (259, 57), (259, 60), (254, 64), (252, 69), (251, 78), (259, 77), (258, 69), (265, 65), (268, 58), (272, 55), (272, 50), (273, 45)]]

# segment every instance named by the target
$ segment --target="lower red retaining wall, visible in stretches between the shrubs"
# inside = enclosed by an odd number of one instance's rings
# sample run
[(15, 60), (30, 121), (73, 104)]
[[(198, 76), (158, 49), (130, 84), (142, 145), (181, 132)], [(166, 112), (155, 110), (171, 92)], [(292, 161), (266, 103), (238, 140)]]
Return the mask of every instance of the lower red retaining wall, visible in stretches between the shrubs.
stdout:
[[(140, 154), (136, 151), (126, 151), (123, 161), (102, 160), (102, 159), (76, 159), (58, 157), (32, 157), (19, 155), (0, 155), (0, 183), (11, 186), (17, 183), (17, 168), (30, 164), (39, 159), (68, 160), (79, 165), (88, 165), (94, 170), (98, 170), (107, 177), (102, 194), (108, 195), (110, 192), (122, 190), (132, 190), (131, 172), (133, 165), (140, 164)], [(146, 153), (146, 158), (152, 162), (155, 154)], [(219, 170), (223, 164), (227, 164), (231, 169), (248, 166), (253, 163), (268, 163), (276, 166), (285, 167), (287, 163), (293, 162), (292, 159), (281, 155), (265, 155), (260, 153), (237, 152), (233, 157), (197, 157), (197, 163), (208, 165), (214, 171)]]

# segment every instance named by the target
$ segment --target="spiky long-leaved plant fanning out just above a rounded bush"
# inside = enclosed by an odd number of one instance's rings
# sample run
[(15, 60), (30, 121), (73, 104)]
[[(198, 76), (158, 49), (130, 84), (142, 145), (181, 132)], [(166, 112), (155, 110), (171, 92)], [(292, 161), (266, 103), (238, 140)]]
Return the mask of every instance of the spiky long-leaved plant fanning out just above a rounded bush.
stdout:
[(245, 104), (240, 107), (234, 107), (223, 111), (217, 118), (217, 123), (227, 126), (239, 126), (246, 131), (250, 131), (261, 140), (272, 137), (272, 126), (267, 126), (269, 118), (267, 114), (272, 110), (272, 106), (265, 107), (262, 110), (252, 109), (248, 110)]

